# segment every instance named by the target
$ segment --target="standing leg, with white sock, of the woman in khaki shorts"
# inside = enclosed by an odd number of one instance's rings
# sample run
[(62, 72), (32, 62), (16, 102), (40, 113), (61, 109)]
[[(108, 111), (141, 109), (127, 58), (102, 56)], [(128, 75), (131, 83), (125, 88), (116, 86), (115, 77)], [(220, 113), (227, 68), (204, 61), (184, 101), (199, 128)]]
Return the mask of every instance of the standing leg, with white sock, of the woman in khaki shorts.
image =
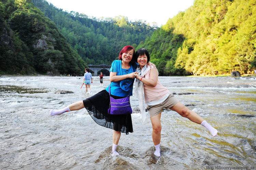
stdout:
[(160, 156), (160, 141), (161, 141), (161, 129), (162, 129), (160, 118), (161, 118), (161, 113), (153, 117), (150, 117), (152, 128), (153, 128), (152, 138), (156, 148), (156, 151), (154, 152), (154, 154), (156, 156)]

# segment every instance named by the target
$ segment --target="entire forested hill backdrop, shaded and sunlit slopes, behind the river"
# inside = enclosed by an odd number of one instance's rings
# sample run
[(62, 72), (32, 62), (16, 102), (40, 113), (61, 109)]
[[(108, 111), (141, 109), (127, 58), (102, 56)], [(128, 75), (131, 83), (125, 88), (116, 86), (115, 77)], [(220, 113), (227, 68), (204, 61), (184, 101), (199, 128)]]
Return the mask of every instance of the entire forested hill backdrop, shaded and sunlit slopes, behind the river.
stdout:
[(256, 69), (255, 37), (255, 0), (195, 0), (161, 28), (45, 0), (1, 0), (0, 74), (81, 74), (87, 64), (110, 64), (126, 45), (148, 49), (162, 76), (246, 74)]

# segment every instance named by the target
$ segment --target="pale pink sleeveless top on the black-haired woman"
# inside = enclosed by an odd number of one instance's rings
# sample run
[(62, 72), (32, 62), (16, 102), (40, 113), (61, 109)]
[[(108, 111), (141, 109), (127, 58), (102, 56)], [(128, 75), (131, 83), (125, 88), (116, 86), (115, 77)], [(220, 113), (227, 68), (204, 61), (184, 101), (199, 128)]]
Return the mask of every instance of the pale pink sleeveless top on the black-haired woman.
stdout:
[[(150, 71), (151, 70), (145, 74), (144, 78), (150, 79)], [(165, 97), (168, 93), (170, 93), (169, 90), (160, 83), (159, 79), (157, 80), (156, 87), (150, 87), (144, 84), (144, 96), (146, 103), (159, 100)]]

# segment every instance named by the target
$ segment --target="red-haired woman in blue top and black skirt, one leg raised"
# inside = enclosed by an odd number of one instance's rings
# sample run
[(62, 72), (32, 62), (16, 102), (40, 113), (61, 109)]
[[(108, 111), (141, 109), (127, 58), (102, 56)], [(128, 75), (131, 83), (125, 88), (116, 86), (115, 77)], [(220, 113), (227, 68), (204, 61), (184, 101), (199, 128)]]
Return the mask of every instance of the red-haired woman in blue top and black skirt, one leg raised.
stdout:
[[(111, 81), (111, 96), (115, 99), (124, 98), (132, 95), (132, 85), (138, 63), (133, 62), (132, 57), (135, 55), (135, 49), (132, 46), (125, 46), (119, 53), (119, 60), (114, 60), (110, 68), (109, 80)], [(151, 65), (151, 64), (150, 64)], [(112, 115), (108, 114), (110, 96), (109, 86), (101, 92), (91, 96), (83, 101), (75, 102), (60, 110), (51, 110), (50, 114), (60, 115), (64, 112), (80, 110), (86, 108), (94, 121), (107, 128), (114, 129), (113, 132), (113, 155), (119, 155), (116, 147), (119, 142), (121, 132), (129, 134), (133, 132), (131, 114)]]

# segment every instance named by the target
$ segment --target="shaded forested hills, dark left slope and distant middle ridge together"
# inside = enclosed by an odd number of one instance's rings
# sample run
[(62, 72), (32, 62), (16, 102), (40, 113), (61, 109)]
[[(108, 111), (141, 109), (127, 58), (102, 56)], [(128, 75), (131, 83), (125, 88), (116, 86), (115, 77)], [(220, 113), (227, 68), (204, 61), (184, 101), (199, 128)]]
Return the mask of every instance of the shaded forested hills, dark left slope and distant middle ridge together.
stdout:
[(81, 74), (87, 64), (111, 64), (157, 28), (67, 13), (45, 0), (1, 0), (0, 22), (0, 74)]

